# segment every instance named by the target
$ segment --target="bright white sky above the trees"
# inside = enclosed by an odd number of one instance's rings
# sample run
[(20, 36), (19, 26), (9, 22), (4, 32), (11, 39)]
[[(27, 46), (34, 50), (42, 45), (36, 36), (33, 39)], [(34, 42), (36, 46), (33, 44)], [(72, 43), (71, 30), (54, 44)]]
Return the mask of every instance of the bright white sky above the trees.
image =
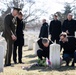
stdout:
[[(1, 1), (6, 1), (6, 0), (0, 0)], [(9, 2), (10, 0), (7, 0), (7, 2)], [(46, 12), (48, 12), (48, 15), (44, 15), (44, 16), (49, 16), (51, 14), (54, 14), (57, 11), (62, 11), (64, 10), (64, 3), (68, 2), (68, 3), (72, 3), (74, 0), (35, 0), (36, 4), (35, 7), (36, 8), (41, 8), (41, 9), (45, 9)], [(3, 5), (2, 3), (0, 3), (0, 9), (6, 9), (5, 5)]]

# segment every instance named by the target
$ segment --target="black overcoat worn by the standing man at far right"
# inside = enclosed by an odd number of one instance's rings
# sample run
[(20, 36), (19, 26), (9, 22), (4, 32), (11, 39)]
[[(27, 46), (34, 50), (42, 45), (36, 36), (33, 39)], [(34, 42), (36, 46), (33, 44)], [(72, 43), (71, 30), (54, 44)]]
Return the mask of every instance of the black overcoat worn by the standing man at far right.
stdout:
[(76, 31), (76, 21), (75, 20), (64, 20), (62, 25), (62, 31), (66, 32), (68, 30), (69, 36), (74, 36), (74, 33)]

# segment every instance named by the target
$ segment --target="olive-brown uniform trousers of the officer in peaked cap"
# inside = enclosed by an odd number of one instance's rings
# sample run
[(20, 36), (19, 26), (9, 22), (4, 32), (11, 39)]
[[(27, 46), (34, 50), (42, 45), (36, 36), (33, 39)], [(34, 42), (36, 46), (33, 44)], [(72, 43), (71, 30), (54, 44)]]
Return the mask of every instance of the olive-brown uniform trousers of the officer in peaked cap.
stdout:
[(7, 42), (7, 51), (5, 56), (5, 65), (10, 65), (12, 51), (13, 51), (13, 41), (11, 38), (9, 38), (9, 39), (6, 39), (6, 42)]

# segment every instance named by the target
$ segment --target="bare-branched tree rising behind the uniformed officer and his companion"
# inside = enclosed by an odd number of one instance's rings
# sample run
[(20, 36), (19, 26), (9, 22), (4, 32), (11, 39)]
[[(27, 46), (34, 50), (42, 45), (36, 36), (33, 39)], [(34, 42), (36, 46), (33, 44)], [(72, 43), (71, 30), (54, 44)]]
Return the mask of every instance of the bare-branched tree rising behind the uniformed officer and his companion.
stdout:
[[(6, 0), (7, 1), (7, 0)], [(21, 8), (22, 10), (24, 9), (23, 13), (24, 13), (24, 21), (25, 23), (31, 23), (31, 22), (34, 22), (35, 20), (37, 20), (39, 18), (39, 16), (43, 13), (45, 13), (45, 11), (43, 11), (42, 9), (38, 9), (38, 8), (35, 8), (35, 1), (33, 0), (11, 0), (10, 2), (2, 2), (7, 10), (4, 11), (4, 10), (1, 10), (1, 19), (2, 21), (4, 20), (4, 17), (6, 16), (6, 14), (10, 13), (11, 12), (11, 8), (12, 7), (19, 7)], [(26, 9), (26, 7), (28, 7)], [(33, 8), (34, 7), (34, 8)], [(40, 14), (37, 14), (37, 13), (40, 13)], [(3, 23), (3, 22), (2, 22)], [(0, 24), (3, 26), (3, 24)]]

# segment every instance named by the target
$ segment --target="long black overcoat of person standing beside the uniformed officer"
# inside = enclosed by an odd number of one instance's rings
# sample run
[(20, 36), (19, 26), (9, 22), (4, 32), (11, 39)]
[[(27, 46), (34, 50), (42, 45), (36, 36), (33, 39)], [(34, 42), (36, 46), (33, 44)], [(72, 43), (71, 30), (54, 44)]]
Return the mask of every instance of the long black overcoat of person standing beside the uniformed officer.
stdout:
[(16, 28), (17, 40), (14, 43), (17, 46), (23, 46), (24, 45), (23, 29), (24, 29), (24, 23), (23, 23), (23, 21), (20, 20), (19, 18), (17, 18), (17, 28)]

